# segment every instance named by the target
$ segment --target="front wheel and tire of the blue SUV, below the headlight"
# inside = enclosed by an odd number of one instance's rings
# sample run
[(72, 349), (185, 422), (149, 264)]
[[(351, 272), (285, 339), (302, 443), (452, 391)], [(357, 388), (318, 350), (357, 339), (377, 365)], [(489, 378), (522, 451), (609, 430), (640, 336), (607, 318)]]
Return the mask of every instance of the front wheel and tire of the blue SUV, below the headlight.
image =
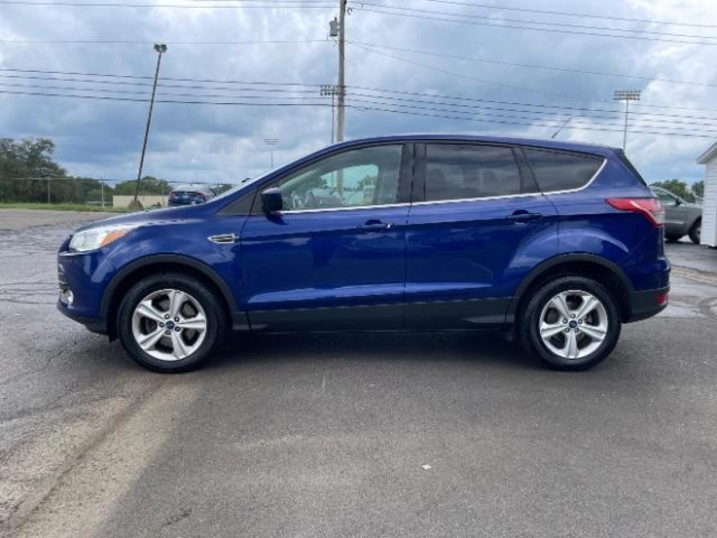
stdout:
[[(125, 294), (117, 329), (135, 362), (154, 372), (179, 373), (209, 357), (224, 339), (225, 321), (222, 303), (206, 285), (182, 273), (158, 273)], [(144, 346), (138, 341), (143, 338)]]

